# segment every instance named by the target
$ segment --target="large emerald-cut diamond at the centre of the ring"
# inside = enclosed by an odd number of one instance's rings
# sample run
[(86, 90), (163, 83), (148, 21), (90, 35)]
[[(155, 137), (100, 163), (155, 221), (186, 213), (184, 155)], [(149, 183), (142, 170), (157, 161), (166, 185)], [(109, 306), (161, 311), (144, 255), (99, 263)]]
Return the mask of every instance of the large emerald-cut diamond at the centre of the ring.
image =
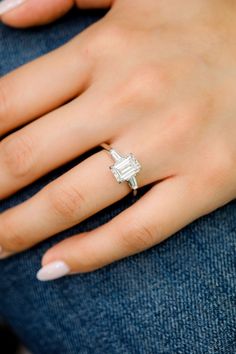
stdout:
[(119, 183), (129, 181), (140, 169), (141, 165), (133, 154), (120, 158), (111, 166), (111, 171)]

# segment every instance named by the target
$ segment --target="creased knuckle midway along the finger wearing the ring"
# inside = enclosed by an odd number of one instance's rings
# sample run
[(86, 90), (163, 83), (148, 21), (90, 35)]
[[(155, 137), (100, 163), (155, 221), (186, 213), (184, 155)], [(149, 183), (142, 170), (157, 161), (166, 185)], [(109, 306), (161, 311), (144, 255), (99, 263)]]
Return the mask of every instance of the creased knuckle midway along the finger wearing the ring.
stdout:
[(56, 214), (64, 219), (78, 219), (79, 211), (85, 204), (85, 200), (75, 186), (56, 183), (50, 188), (48, 194), (50, 205)]

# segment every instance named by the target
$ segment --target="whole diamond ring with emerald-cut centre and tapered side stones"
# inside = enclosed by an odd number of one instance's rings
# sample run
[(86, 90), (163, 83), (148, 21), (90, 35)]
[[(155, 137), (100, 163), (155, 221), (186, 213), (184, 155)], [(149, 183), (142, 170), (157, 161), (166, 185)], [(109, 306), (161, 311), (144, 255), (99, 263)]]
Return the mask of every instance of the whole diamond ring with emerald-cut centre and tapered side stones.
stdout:
[(108, 144), (101, 146), (110, 153), (114, 164), (110, 166), (110, 170), (118, 183), (128, 182), (129, 187), (133, 190), (134, 195), (137, 194), (138, 182), (137, 174), (141, 171), (141, 164), (135, 158), (134, 154), (122, 155)]

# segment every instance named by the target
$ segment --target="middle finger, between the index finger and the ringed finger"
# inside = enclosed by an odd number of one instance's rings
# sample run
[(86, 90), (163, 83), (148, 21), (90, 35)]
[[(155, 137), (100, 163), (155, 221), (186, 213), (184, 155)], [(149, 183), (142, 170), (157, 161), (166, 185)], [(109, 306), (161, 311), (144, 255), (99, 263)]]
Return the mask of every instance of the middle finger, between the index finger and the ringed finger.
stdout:
[(109, 139), (99, 98), (87, 90), (1, 141), (0, 200)]

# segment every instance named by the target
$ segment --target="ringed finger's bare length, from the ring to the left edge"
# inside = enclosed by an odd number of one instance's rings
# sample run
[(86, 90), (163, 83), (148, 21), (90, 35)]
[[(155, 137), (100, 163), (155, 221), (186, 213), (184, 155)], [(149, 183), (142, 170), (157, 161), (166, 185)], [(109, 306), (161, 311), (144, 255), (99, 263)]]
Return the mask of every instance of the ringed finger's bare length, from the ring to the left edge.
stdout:
[[(0, 215), (0, 246), (17, 253), (66, 230), (130, 193), (109, 170), (100, 151), (48, 184), (24, 203)], [(30, 215), (30, 217), (29, 217)], [(33, 230), (33, 232), (32, 232)]]

